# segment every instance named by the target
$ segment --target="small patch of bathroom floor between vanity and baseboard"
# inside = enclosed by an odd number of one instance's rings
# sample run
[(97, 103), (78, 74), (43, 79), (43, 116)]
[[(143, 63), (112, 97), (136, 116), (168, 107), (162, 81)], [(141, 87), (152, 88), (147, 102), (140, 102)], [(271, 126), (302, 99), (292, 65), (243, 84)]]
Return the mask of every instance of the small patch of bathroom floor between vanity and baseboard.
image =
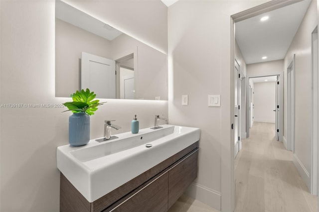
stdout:
[(168, 212), (219, 212), (187, 195), (182, 195)]

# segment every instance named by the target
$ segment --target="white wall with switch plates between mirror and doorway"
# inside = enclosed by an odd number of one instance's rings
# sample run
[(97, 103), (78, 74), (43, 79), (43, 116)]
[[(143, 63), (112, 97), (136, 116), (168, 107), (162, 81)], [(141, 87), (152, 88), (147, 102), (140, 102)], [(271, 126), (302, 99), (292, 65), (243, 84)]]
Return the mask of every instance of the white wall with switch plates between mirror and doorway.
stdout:
[[(231, 211), (230, 16), (265, 1), (181, 0), (168, 7), (169, 122), (201, 129), (199, 170), (189, 195)], [(208, 107), (207, 95), (221, 106)], [(181, 96), (188, 95), (188, 106)]]

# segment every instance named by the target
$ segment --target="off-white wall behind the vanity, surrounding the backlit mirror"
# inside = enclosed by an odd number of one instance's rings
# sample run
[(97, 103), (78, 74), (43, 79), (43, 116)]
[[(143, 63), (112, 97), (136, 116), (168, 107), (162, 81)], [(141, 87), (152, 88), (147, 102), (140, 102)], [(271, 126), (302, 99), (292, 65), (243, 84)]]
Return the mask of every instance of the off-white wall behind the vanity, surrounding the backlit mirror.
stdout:
[[(95, 11), (94, 7), (102, 11), (106, 5), (108, 8), (104, 10), (111, 10), (112, 4), (116, 4), (115, 11), (104, 12), (101, 17), (117, 20), (119, 28), (127, 26), (127, 31), (138, 31), (149, 43), (166, 49), (167, 38), (162, 31), (167, 29), (164, 18), (167, 8), (161, 7), (160, 1), (130, 2), (86, 1), (85, 4), (89, 4), (91, 12)], [(53, 0), (0, 1), (1, 104), (61, 104), (70, 100), (54, 97), (54, 7)], [(123, 9), (117, 13), (119, 7)], [(131, 22), (128, 18), (131, 16), (143, 21)], [(153, 28), (155, 32), (150, 32)], [(153, 33), (157, 31), (160, 33), (155, 36)], [(115, 123), (122, 126), (121, 130), (113, 131), (118, 133), (131, 130), (134, 114), (138, 114), (141, 128), (152, 126), (155, 114), (168, 115), (167, 101), (107, 101), (91, 116), (91, 138), (103, 136), (106, 118), (116, 119)], [(62, 113), (63, 110), (0, 108), (1, 212), (59, 211), (56, 148), (68, 144), (70, 115)]]

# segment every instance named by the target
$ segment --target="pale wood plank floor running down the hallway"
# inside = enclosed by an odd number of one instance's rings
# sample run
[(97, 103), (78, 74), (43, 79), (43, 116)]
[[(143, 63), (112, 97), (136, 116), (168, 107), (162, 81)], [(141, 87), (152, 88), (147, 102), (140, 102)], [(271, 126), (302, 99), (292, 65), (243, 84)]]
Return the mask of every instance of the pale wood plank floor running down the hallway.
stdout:
[(235, 159), (235, 212), (317, 212), (275, 124), (254, 122)]

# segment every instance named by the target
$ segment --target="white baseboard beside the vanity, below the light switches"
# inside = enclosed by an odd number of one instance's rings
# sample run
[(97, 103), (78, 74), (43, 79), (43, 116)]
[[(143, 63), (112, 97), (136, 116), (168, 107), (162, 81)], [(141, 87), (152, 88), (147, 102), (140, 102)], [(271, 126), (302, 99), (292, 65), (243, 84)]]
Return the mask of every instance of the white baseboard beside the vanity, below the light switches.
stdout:
[(192, 183), (186, 190), (186, 195), (196, 199), (214, 209), (221, 211), (221, 194), (220, 192), (209, 189), (197, 183)]

